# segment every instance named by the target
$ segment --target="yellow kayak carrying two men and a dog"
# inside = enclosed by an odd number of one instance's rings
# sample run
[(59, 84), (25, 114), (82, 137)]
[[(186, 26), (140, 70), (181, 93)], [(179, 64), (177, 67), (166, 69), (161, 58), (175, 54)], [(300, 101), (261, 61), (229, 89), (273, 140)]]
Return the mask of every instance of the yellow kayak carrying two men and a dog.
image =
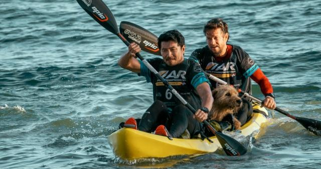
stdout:
[[(259, 105), (253, 105), (254, 113), (240, 130), (244, 136), (258, 132), (264, 122), (268, 120), (268, 111)], [(256, 110), (255, 110), (256, 109)], [(260, 110), (261, 113), (256, 112)], [(263, 115), (265, 113), (265, 115)], [(207, 139), (173, 138), (170, 140), (166, 136), (156, 135), (139, 131), (132, 128), (123, 127), (108, 135), (108, 141), (116, 156), (121, 159), (138, 159), (148, 157), (167, 157), (172, 155), (191, 155), (214, 152), (222, 148), (216, 136), (210, 137), (214, 142)]]

